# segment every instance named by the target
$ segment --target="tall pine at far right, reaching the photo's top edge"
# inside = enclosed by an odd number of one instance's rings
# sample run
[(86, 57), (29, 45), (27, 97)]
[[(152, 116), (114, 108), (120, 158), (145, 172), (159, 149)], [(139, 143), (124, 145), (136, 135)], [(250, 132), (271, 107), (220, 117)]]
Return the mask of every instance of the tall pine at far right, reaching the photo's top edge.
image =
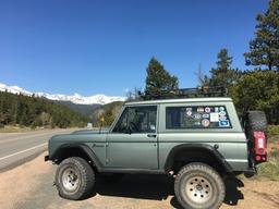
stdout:
[(279, 71), (279, 0), (270, 0), (266, 13), (258, 14), (255, 38), (244, 53), (246, 65), (266, 65)]

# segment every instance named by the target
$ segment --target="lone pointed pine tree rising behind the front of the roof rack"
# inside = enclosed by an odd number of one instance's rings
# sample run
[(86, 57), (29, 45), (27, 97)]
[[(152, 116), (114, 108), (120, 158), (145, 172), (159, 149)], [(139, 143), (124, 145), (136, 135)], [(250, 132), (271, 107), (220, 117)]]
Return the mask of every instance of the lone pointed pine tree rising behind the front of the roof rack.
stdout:
[(179, 86), (178, 77), (170, 75), (155, 58), (150, 59), (146, 72), (146, 94), (159, 95), (162, 90), (177, 89)]

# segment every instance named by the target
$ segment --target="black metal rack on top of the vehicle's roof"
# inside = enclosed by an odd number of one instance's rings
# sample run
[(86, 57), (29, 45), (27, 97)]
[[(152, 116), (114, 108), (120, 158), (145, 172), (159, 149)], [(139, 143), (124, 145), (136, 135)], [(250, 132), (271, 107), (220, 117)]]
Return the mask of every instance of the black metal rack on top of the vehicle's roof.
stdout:
[(140, 93), (140, 96), (144, 100), (198, 97), (227, 97), (228, 89), (223, 86), (203, 86), (197, 88), (179, 88), (172, 90), (161, 90), (157, 94), (145, 91), (145, 94)]

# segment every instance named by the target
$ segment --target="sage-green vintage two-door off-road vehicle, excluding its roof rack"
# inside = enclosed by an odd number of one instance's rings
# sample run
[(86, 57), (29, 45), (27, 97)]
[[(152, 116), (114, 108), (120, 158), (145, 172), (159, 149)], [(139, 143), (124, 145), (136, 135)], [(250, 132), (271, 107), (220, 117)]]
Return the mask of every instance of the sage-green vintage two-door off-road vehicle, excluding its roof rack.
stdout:
[(53, 136), (46, 160), (59, 164), (63, 198), (87, 197), (96, 174), (170, 174), (183, 208), (219, 208), (223, 179), (252, 176), (267, 160), (265, 114), (250, 111), (242, 121), (227, 97), (126, 102), (109, 131)]

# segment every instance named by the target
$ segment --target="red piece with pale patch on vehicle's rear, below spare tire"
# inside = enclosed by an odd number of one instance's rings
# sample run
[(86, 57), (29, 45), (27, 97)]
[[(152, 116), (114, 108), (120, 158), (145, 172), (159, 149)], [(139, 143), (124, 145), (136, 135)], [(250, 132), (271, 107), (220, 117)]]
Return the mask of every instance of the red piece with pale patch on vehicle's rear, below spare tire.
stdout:
[(255, 161), (266, 162), (267, 150), (266, 150), (266, 135), (264, 132), (254, 132), (254, 144), (255, 144)]

